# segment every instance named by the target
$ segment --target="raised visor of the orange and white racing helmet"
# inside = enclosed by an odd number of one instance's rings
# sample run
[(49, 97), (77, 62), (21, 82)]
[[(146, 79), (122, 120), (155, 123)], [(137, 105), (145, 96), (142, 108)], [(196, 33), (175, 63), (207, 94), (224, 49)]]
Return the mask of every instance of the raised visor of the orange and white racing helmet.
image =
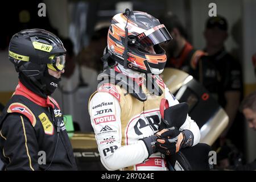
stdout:
[(143, 47), (154, 46), (172, 40), (172, 36), (163, 24), (139, 34), (137, 38)]

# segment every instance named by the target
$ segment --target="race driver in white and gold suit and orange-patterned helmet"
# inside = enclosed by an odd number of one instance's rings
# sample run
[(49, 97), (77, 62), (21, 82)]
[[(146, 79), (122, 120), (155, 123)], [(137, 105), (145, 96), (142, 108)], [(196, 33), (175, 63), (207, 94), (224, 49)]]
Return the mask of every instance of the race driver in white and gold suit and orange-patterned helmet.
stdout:
[(98, 151), (108, 170), (165, 171), (164, 154), (199, 143), (199, 127), (187, 114), (179, 128), (160, 130), (160, 103), (165, 98), (169, 106), (179, 104), (159, 77), (166, 64), (159, 44), (171, 39), (164, 25), (147, 13), (126, 9), (112, 19), (104, 72), (89, 100)]

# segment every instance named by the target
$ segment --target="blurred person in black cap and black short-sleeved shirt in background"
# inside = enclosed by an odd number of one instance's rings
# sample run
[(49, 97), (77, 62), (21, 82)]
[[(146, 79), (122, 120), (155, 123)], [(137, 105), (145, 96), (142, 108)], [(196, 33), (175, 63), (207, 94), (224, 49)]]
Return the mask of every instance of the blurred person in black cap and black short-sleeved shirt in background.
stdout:
[[(228, 22), (224, 17), (218, 15), (207, 19), (204, 38), (207, 56), (201, 57), (197, 64), (197, 79), (216, 98), (229, 117), (228, 126), (213, 144), (213, 149), (217, 151), (218, 165), (223, 168), (229, 163), (242, 163), (243, 159), (242, 116), (238, 112), (243, 94), (242, 71), (240, 63), (225, 49)], [(238, 132), (241, 135), (237, 135)]]

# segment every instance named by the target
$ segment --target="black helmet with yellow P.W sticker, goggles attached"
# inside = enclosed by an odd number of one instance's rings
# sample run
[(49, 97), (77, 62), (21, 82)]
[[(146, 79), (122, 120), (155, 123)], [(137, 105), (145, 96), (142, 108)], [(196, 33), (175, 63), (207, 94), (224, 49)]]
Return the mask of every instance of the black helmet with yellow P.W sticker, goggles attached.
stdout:
[(22, 30), (13, 35), (9, 44), (9, 60), (15, 65), (16, 72), (22, 72), (36, 85), (40, 84), (38, 80), (47, 68), (63, 71), (65, 53), (61, 40), (42, 29)]

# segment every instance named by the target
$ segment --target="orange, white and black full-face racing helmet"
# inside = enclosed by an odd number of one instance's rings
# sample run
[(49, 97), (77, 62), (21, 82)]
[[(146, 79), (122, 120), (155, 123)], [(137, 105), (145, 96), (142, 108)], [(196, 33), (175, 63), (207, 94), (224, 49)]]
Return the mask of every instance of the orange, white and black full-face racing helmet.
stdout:
[[(160, 74), (166, 64), (166, 52), (160, 43), (172, 40), (164, 24), (141, 11), (119, 13), (112, 18), (108, 32), (110, 57), (125, 69)], [(152, 46), (155, 53), (146, 51)]]

